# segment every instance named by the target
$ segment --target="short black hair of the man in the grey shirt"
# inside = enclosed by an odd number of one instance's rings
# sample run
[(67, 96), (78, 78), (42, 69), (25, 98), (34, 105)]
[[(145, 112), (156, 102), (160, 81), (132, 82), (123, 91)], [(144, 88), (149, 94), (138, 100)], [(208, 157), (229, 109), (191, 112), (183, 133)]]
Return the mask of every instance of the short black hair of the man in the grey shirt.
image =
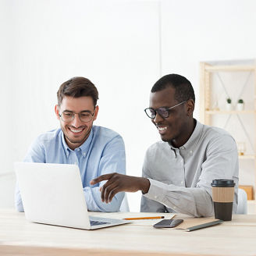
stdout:
[(175, 89), (174, 98), (176, 101), (182, 102), (192, 99), (195, 101), (194, 89), (192, 84), (186, 77), (177, 74), (169, 74), (162, 76), (152, 87), (151, 92), (162, 91), (166, 87)]

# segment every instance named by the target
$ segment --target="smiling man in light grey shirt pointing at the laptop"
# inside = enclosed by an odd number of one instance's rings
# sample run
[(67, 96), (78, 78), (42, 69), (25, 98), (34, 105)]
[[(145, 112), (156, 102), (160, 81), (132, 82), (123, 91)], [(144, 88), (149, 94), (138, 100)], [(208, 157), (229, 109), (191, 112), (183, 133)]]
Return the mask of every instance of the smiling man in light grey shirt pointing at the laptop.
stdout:
[(233, 211), (237, 207), (238, 158), (235, 140), (225, 130), (205, 126), (193, 118), (194, 90), (184, 76), (163, 76), (151, 89), (147, 116), (162, 141), (144, 158), (143, 177), (111, 173), (91, 184), (108, 180), (101, 188), (106, 203), (119, 191), (141, 190), (141, 212), (180, 212), (192, 216), (214, 215), (212, 180), (236, 183)]

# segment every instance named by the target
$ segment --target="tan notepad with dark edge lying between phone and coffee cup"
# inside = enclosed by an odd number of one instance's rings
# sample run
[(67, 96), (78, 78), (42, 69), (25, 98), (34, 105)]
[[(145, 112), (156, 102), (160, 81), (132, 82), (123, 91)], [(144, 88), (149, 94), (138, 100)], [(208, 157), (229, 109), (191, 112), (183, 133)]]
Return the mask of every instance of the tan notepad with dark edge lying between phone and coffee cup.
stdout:
[(197, 229), (204, 229), (208, 226), (215, 226), (217, 224), (222, 223), (223, 221), (220, 219), (210, 218), (189, 218), (184, 219), (184, 222), (179, 226), (176, 226), (173, 229), (182, 229), (184, 231), (194, 231)]

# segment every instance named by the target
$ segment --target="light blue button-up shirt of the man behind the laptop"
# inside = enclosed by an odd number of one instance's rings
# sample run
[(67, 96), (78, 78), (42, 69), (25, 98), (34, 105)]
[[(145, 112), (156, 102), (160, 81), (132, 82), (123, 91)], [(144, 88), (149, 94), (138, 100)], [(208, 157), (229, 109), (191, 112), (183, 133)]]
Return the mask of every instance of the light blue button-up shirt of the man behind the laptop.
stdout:
[[(99, 186), (90, 185), (97, 176), (110, 172), (126, 173), (126, 155), (123, 138), (113, 130), (93, 126), (87, 140), (74, 151), (66, 144), (61, 129), (41, 134), (30, 146), (24, 162), (44, 162), (79, 165), (80, 176), (84, 187), (84, 197), (89, 211), (117, 212), (124, 193), (118, 193), (112, 202), (101, 202)], [(16, 185), (16, 209), (23, 212), (19, 185)]]

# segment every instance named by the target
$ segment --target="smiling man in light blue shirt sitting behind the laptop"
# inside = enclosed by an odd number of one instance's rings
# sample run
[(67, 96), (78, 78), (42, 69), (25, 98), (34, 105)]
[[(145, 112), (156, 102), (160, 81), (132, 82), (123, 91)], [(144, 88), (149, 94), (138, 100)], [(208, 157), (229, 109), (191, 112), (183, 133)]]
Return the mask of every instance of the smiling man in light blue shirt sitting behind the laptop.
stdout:
[[(95, 176), (126, 172), (123, 138), (113, 130), (93, 125), (98, 115), (97, 88), (84, 77), (73, 77), (59, 87), (57, 98), (55, 114), (60, 129), (37, 137), (24, 162), (79, 165), (88, 210), (118, 211), (124, 193), (116, 194), (110, 204), (104, 204), (99, 190), (102, 184), (90, 185)], [(15, 204), (19, 212), (24, 211), (18, 184)]]

